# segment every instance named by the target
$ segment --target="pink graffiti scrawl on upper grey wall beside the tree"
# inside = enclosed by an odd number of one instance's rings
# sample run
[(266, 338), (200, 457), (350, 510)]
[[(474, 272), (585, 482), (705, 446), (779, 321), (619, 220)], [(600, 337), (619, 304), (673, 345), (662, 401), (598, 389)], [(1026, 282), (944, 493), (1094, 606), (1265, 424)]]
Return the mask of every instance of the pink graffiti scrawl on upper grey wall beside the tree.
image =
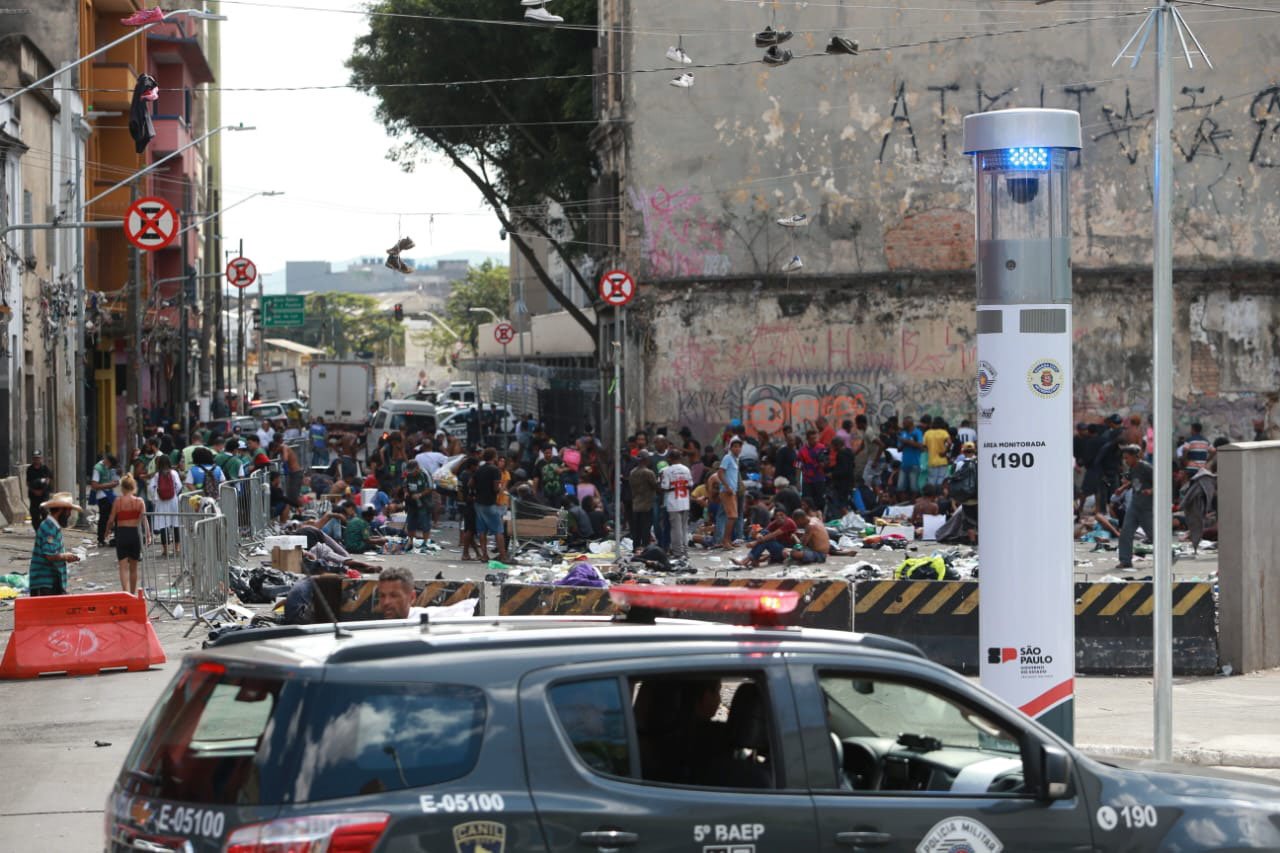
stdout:
[(631, 206), (644, 220), (644, 256), (655, 275), (724, 275), (722, 227), (698, 214), (703, 197), (685, 190), (659, 186), (652, 193), (631, 190)]

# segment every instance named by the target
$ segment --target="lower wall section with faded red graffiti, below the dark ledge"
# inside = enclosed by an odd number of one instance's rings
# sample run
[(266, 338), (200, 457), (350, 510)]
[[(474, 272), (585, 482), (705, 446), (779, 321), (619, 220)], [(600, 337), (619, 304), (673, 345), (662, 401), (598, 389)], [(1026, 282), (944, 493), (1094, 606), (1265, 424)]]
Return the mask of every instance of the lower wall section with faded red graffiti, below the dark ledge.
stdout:
[[(1178, 429), (1252, 437), (1280, 416), (1275, 273), (1175, 282)], [(974, 282), (884, 274), (653, 284), (632, 316), (645, 337), (640, 423), (709, 434), (732, 418), (778, 429), (818, 414), (942, 414), (977, 423)], [(1149, 273), (1078, 274), (1078, 419), (1146, 411), (1151, 400)], [(635, 411), (635, 410), (634, 410)]]

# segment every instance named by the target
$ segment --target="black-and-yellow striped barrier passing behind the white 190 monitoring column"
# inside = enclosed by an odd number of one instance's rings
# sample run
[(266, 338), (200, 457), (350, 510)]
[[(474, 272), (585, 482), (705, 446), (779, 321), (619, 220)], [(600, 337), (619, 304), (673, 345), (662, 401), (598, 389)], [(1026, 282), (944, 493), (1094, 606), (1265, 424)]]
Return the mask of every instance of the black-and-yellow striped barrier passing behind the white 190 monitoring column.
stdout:
[[(977, 672), (978, 581), (864, 580), (854, 588), (854, 630), (915, 643), (934, 661)], [(1149, 581), (1075, 584), (1075, 670), (1151, 674), (1155, 597)], [(1174, 671), (1217, 671), (1213, 585), (1174, 584)]]

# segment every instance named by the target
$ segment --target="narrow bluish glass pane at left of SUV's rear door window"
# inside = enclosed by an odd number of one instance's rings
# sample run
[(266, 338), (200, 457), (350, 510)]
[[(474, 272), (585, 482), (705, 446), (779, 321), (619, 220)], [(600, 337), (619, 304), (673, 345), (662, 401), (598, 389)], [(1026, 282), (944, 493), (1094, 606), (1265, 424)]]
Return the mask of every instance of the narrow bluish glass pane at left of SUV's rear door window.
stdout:
[(564, 734), (591, 770), (631, 775), (631, 747), (617, 679), (557, 684), (550, 697)]

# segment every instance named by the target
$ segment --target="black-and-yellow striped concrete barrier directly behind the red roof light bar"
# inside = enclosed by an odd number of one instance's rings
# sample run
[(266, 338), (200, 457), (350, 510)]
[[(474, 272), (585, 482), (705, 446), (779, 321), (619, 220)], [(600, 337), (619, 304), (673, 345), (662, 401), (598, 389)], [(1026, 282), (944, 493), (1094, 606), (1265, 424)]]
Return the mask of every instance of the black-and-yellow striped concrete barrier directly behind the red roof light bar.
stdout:
[[(696, 587), (745, 587), (749, 589), (794, 589), (800, 594), (795, 612), (785, 616), (786, 625), (850, 630), (852, 625), (854, 597), (846, 580), (799, 580), (763, 578), (707, 578), (677, 581)], [(584, 613), (614, 613), (608, 589), (593, 587), (547, 587), (530, 584), (503, 584), (498, 598), (498, 612), (503, 616), (567, 616)], [(678, 613), (677, 613), (678, 615)], [(714, 619), (713, 615), (690, 615), (694, 619)], [(716, 621), (732, 621), (731, 619)], [(739, 617), (736, 621), (741, 621)]]

